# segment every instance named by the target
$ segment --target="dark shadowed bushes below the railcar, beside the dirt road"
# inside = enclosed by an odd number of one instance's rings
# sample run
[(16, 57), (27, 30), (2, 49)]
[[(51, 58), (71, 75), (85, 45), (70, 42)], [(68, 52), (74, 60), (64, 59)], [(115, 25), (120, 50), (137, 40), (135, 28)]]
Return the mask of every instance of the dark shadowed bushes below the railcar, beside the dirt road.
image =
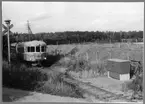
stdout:
[(22, 90), (34, 90), (36, 87), (43, 85), (47, 80), (47, 74), (39, 69), (28, 68), (25, 64), (8, 65), (3, 61), (2, 69), (3, 86), (17, 88)]

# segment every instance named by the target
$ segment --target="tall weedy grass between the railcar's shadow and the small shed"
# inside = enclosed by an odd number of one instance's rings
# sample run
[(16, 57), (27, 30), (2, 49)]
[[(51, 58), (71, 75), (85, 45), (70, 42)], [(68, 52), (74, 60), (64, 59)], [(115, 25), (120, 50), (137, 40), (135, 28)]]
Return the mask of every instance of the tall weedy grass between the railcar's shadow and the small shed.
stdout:
[(75, 56), (64, 57), (54, 66), (65, 67), (69, 74), (79, 78), (97, 77), (106, 73), (105, 62), (90, 63), (86, 59)]

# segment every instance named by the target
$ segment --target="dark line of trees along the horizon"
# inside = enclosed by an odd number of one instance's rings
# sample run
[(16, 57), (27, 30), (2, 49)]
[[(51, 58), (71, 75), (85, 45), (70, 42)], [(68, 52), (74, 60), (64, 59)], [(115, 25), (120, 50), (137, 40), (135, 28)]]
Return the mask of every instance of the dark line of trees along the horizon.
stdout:
[(11, 43), (31, 40), (43, 40), (47, 44), (71, 44), (85, 42), (121, 42), (122, 39), (137, 39), (142, 41), (143, 31), (129, 32), (88, 32), (88, 31), (65, 31), (54, 33), (13, 33)]

